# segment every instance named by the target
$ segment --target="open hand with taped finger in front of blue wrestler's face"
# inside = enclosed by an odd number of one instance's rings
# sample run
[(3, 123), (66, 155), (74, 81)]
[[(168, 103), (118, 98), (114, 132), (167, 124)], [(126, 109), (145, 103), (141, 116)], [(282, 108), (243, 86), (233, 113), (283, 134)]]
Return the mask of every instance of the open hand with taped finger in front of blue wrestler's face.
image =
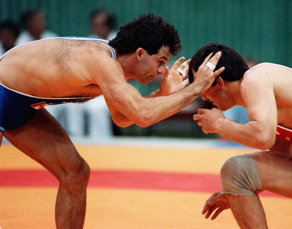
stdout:
[(176, 62), (174, 62), (170, 70), (166, 67), (166, 71), (162, 77), (160, 85), (162, 95), (174, 93), (188, 84), (188, 79), (183, 80), (183, 78), (188, 72), (188, 66), (191, 60), (189, 59), (182, 64), (184, 59), (184, 57), (179, 58)]

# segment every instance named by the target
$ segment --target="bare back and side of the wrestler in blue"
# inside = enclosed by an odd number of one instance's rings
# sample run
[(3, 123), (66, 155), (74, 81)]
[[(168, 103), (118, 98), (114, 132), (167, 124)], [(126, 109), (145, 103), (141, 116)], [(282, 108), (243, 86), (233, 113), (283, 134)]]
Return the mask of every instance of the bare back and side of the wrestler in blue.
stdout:
[(2, 57), (0, 84), (39, 97), (98, 96), (102, 93), (95, 79), (104, 58), (112, 59), (111, 50), (91, 40), (38, 40)]

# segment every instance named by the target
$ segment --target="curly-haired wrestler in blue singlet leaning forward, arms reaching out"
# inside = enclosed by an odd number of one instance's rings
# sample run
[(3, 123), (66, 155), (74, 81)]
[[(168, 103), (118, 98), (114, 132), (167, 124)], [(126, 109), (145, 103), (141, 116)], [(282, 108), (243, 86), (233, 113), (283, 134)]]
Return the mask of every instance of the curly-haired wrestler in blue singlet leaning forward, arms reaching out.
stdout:
[[(81, 229), (90, 168), (59, 123), (43, 106), (80, 102), (104, 95), (113, 121), (148, 126), (178, 112), (210, 87), (220, 53), (203, 61), (197, 81), (184, 88), (184, 58), (165, 67), (181, 49), (174, 27), (161, 17), (142, 15), (110, 40), (49, 38), (18, 46), (0, 59), (0, 137), (48, 169), (58, 180), (57, 229)], [(181, 65), (181, 66), (180, 66)], [(163, 75), (159, 89), (144, 98), (127, 80), (149, 84)], [(98, 224), (98, 222), (97, 222)]]

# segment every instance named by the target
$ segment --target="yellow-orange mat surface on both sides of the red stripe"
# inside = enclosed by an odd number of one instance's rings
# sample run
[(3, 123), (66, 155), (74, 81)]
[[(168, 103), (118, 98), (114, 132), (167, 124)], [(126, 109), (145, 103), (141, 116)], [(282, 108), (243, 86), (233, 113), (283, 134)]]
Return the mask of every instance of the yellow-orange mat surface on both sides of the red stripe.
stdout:
[[(91, 169), (219, 174), (224, 161), (247, 148), (182, 149), (77, 145)], [(42, 169), (9, 144), (1, 146), (0, 169)], [(1, 229), (54, 229), (56, 188), (0, 188)], [(88, 189), (84, 229), (237, 229), (230, 210), (215, 221), (201, 210), (208, 193)], [(291, 229), (292, 200), (261, 197), (270, 229)]]

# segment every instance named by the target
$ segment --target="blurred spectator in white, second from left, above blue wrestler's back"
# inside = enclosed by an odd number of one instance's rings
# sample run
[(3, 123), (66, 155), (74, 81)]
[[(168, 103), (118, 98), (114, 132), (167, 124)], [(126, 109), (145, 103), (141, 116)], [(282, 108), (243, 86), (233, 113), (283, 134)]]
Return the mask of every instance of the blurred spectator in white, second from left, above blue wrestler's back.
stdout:
[(21, 16), (21, 23), (25, 30), (18, 36), (16, 45), (58, 36), (54, 32), (46, 30), (46, 19), (41, 11), (26, 10)]

